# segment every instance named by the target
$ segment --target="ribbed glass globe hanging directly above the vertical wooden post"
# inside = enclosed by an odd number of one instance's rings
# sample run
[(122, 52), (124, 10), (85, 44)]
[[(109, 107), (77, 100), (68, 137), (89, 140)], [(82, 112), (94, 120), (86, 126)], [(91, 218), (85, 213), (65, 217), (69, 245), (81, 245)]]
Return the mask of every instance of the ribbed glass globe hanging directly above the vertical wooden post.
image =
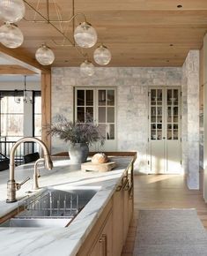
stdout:
[(53, 51), (45, 44), (42, 44), (41, 47), (36, 50), (35, 58), (42, 65), (49, 65), (55, 61)]

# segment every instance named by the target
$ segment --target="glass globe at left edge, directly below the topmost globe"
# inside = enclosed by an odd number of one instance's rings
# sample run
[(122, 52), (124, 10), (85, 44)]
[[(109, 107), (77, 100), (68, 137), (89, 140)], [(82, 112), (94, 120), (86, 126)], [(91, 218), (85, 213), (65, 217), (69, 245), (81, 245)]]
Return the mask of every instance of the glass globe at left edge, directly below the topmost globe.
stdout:
[(8, 48), (18, 48), (24, 41), (24, 36), (18, 26), (6, 22), (0, 26), (0, 42)]

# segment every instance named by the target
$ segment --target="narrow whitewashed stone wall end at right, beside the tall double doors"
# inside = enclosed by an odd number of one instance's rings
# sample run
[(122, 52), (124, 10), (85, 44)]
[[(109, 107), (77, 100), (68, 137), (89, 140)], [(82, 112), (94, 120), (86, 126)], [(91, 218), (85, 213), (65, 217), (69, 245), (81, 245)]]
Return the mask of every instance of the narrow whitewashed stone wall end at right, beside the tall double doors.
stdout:
[(182, 67), (182, 166), (189, 189), (199, 189), (199, 50)]

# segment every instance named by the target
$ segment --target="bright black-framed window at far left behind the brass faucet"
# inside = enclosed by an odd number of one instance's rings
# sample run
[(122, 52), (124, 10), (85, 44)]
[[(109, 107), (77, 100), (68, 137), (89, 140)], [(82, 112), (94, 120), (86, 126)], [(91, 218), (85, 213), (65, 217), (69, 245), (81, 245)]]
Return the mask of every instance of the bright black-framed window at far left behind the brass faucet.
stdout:
[[(41, 92), (29, 91), (31, 102), (23, 101), (23, 91), (0, 91), (0, 152), (10, 156), (12, 145), (24, 136), (41, 138)], [(40, 146), (25, 142), (15, 153), (16, 161), (23, 155), (40, 152)]]

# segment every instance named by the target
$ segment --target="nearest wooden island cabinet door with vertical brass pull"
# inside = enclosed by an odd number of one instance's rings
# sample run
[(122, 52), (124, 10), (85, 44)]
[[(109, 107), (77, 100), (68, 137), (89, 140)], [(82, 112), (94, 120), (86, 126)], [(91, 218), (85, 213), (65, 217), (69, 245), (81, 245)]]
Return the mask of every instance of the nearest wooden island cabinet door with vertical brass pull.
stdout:
[(114, 256), (112, 253), (112, 214), (107, 217), (107, 222), (101, 231), (100, 237), (92, 247), (90, 256)]

